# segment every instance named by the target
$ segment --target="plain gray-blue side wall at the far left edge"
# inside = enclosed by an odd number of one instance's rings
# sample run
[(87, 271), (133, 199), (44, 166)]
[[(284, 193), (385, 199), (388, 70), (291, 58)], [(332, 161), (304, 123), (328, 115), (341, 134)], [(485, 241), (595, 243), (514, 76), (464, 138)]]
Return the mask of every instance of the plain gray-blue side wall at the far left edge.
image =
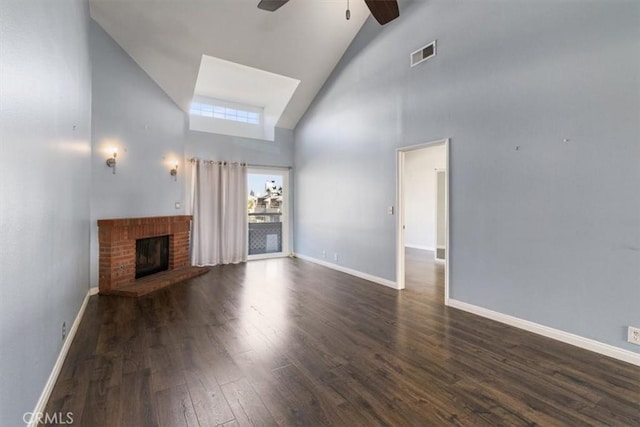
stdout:
[(84, 0), (0, 2), (0, 414), (23, 423), (89, 290)]

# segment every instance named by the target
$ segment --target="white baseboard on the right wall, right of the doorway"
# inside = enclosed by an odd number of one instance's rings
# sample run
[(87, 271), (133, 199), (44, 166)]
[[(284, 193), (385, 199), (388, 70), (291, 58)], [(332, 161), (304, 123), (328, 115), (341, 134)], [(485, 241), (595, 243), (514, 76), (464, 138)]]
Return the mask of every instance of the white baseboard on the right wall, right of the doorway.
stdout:
[(488, 308), (468, 304), (453, 298), (449, 299), (448, 305), (481, 317), (486, 317), (487, 319), (495, 320), (496, 322), (515, 326), (516, 328), (524, 329), (525, 331), (533, 332), (534, 334), (552, 338), (566, 344), (571, 344), (585, 350), (590, 350), (614, 359), (622, 360), (623, 362), (640, 366), (640, 353), (601, 343), (599, 341), (581, 337), (580, 335), (571, 334), (559, 329), (550, 328), (518, 317), (509, 316), (508, 314), (502, 314), (497, 311), (489, 310)]

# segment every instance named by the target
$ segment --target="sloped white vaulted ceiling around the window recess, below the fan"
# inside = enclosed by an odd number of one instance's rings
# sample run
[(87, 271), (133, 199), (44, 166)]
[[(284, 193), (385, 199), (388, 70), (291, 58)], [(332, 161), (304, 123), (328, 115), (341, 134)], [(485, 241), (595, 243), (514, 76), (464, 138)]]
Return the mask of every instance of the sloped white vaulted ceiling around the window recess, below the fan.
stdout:
[(91, 17), (189, 111), (202, 55), (300, 80), (279, 127), (293, 129), (369, 11), (363, 0), (90, 0)]

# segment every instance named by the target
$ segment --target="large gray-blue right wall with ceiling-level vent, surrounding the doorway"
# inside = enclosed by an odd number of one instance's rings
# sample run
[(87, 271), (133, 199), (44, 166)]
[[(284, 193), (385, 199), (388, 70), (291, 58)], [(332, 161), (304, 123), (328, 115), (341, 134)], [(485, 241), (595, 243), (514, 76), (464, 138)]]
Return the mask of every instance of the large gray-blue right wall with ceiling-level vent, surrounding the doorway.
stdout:
[(640, 3), (401, 10), (296, 129), (296, 252), (395, 280), (395, 149), (450, 137), (451, 297), (637, 352)]

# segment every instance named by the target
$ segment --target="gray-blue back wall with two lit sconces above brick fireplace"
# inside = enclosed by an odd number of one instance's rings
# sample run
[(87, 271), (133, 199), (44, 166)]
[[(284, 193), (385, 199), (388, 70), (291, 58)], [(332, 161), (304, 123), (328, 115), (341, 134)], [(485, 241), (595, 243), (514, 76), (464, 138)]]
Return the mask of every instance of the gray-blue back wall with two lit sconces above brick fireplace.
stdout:
[[(293, 162), (293, 131), (275, 141), (190, 131), (185, 113), (95, 22), (93, 63), (91, 285), (98, 286), (101, 218), (180, 215), (189, 211), (190, 165), (200, 157), (274, 166)], [(116, 174), (105, 160), (118, 147)], [(178, 179), (169, 175), (179, 161)], [(180, 203), (180, 209), (175, 203)]]

